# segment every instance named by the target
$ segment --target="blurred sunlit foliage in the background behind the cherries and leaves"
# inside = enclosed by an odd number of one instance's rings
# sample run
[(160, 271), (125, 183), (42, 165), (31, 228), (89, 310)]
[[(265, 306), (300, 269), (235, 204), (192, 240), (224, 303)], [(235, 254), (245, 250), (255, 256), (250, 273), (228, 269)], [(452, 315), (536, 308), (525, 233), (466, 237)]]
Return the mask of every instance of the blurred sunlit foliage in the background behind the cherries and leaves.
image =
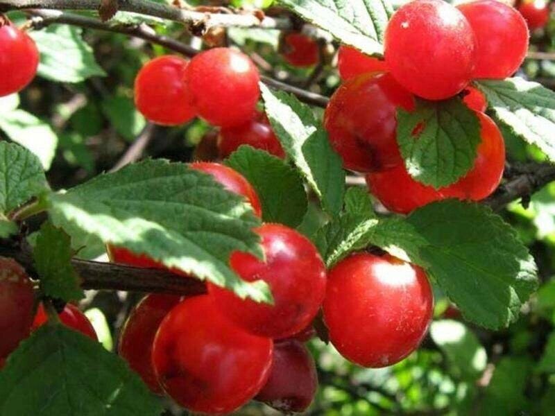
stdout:
[[(271, 0), (189, 1), (197, 5), (268, 8), (283, 13)], [(22, 13), (10, 13), (22, 24)], [(117, 22), (144, 21), (119, 12)], [(179, 24), (158, 19), (146, 23), (160, 35), (196, 48)], [(278, 31), (232, 28), (209, 33), (205, 41), (237, 46), (253, 57), (262, 73), (291, 85), (330, 96), (339, 85), (334, 67), (339, 45), (311, 31), (322, 45), (321, 64), (299, 69), (280, 55)], [(142, 140), (144, 155), (188, 162), (216, 155), (215, 132), (200, 120), (178, 128), (149, 125), (135, 110), (133, 81), (151, 58), (171, 53), (161, 46), (115, 33), (52, 25), (32, 32), (42, 51), (40, 76), (18, 96), (0, 100), (0, 137), (33, 148), (37, 143), (49, 182), (56, 189), (74, 186), (116, 166), (126, 150)], [(555, 53), (555, 19), (532, 33), (531, 51)], [(555, 87), (555, 60), (528, 59), (520, 76)], [(66, 82), (53, 82), (62, 79)], [(320, 111), (320, 110), (316, 110)], [(555, 133), (554, 133), (555, 134)], [(505, 134), (508, 174), (514, 162), (543, 159), (532, 146)], [(422, 347), (406, 360), (382, 370), (366, 370), (345, 361), (331, 345), (311, 340), (321, 388), (309, 415), (552, 415), (555, 413), (555, 183), (529, 200), (513, 203), (504, 213), (540, 268), (542, 285), (525, 306), (520, 320), (505, 331), (492, 332), (465, 322), (443, 294), (436, 291), (436, 320)], [(323, 214), (311, 205), (301, 229), (311, 234)], [(102, 256), (103, 247), (81, 252)], [(103, 345), (114, 349), (126, 314), (139, 300), (128, 293), (89, 292), (83, 303)], [(168, 404), (167, 414), (185, 414)], [(273, 415), (251, 404), (241, 415)]]

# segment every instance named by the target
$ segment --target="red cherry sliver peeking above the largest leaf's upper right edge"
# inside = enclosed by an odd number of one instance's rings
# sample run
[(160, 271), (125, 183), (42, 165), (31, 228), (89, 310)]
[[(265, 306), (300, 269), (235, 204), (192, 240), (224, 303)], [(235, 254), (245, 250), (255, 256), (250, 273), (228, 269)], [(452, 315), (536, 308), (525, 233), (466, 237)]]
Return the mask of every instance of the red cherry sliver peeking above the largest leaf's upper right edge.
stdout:
[(250, 205), (252, 205), (255, 215), (262, 217), (262, 205), (260, 205), (257, 193), (253, 188), (253, 185), (248, 183), (248, 180), (246, 180), (243, 175), (234, 171), (232, 168), (228, 168), (228, 166), (224, 166), (219, 163), (194, 162), (189, 166), (196, 171), (212, 175), (214, 180), (222, 184), (228, 191), (244, 196)]

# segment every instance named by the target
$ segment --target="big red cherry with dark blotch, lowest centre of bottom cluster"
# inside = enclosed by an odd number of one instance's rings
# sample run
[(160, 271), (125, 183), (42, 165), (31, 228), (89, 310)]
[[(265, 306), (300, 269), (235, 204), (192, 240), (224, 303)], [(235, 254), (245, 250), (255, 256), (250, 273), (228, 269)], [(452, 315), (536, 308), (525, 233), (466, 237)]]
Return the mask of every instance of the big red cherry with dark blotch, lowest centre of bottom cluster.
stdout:
[(273, 341), (234, 326), (207, 295), (190, 297), (164, 318), (152, 362), (160, 385), (194, 412), (231, 413), (262, 388)]

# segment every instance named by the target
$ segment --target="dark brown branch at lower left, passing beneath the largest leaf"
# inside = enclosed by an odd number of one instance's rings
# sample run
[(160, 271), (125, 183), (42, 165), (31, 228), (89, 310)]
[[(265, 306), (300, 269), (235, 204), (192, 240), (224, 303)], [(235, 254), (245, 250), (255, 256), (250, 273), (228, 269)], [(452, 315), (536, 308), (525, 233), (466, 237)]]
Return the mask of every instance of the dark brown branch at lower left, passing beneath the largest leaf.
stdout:
[[(18, 261), (36, 277), (33, 257), (27, 250), (0, 244), (0, 256)], [(200, 295), (206, 293), (205, 284), (197, 279), (175, 275), (167, 270), (135, 268), (114, 263), (72, 259), (83, 289), (106, 291), (134, 291), (167, 293), (170, 295)]]

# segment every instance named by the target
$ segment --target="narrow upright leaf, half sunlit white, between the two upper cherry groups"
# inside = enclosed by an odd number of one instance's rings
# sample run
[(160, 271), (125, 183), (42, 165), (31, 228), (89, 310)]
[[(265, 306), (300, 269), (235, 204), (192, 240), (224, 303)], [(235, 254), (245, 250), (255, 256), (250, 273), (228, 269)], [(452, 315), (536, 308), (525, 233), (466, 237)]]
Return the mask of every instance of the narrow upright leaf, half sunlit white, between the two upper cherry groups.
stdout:
[(275, 134), (300, 173), (320, 198), (325, 211), (339, 214), (345, 193), (345, 171), (341, 157), (309, 106), (282, 91), (260, 85), (266, 114)]

